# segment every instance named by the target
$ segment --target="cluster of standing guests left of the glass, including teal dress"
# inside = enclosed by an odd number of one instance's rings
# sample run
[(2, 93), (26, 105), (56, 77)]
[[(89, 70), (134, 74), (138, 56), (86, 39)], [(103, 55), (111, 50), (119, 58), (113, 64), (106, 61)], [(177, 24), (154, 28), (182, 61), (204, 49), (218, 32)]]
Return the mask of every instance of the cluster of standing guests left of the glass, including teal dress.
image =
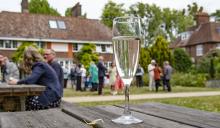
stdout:
[(118, 91), (123, 90), (123, 82), (117, 73), (115, 63), (111, 63), (107, 69), (104, 65), (103, 56), (99, 56), (97, 64), (93, 61), (90, 62), (88, 73), (86, 72), (81, 64), (74, 65), (70, 69), (72, 88), (76, 85), (76, 91), (86, 90), (91, 85), (90, 91), (98, 91), (98, 95), (103, 95), (106, 78), (109, 78), (108, 84), (111, 88), (111, 94), (116, 95)]

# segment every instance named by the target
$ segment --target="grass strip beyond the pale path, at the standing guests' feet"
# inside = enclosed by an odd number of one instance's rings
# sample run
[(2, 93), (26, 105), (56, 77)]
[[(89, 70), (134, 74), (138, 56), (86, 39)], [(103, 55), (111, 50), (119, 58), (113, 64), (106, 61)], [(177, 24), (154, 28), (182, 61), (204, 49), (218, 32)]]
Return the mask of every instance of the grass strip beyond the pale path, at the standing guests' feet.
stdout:
[[(181, 86), (174, 86), (172, 87), (172, 92), (199, 92), (199, 91), (220, 91), (216, 88), (201, 88), (201, 87), (181, 87)], [(110, 94), (110, 87), (106, 86), (103, 89), (104, 95), (111, 95)], [(147, 86), (144, 86), (142, 88), (132, 87), (130, 88), (130, 94), (150, 94), (155, 92), (150, 92), (148, 90)], [(158, 93), (166, 93), (162, 90), (162, 87), (159, 88)], [(96, 96), (98, 92), (90, 92), (90, 91), (75, 91), (72, 88), (64, 89), (64, 97), (76, 97), (76, 96)], [(122, 95), (122, 93), (119, 93), (119, 95)]]

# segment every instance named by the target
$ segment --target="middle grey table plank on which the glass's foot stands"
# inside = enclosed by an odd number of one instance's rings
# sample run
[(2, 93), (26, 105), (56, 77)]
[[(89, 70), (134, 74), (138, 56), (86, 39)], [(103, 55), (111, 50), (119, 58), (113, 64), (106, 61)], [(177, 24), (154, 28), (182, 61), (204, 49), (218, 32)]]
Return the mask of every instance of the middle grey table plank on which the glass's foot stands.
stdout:
[(139, 112), (132, 112), (134, 116), (144, 120), (140, 124), (120, 125), (111, 120), (119, 117), (123, 113), (123, 109), (116, 106), (97, 106), (97, 107), (79, 107), (65, 105), (63, 111), (80, 120), (93, 121), (102, 119), (104, 123), (98, 124), (97, 127), (103, 128), (195, 128), (192, 126), (179, 124), (170, 120), (149, 116)]

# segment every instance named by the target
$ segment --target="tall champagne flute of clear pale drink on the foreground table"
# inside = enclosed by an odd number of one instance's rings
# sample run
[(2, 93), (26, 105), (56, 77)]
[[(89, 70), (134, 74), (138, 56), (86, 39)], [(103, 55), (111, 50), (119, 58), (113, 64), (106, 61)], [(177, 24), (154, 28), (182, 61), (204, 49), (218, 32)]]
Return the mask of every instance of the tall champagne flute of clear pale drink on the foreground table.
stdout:
[(112, 121), (136, 124), (142, 120), (132, 116), (129, 108), (129, 87), (137, 70), (141, 45), (141, 25), (138, 17), (117, 17), (113, 20), (113, 51), (116, 68), (125, 84), (125, 107), (122, 116)]

